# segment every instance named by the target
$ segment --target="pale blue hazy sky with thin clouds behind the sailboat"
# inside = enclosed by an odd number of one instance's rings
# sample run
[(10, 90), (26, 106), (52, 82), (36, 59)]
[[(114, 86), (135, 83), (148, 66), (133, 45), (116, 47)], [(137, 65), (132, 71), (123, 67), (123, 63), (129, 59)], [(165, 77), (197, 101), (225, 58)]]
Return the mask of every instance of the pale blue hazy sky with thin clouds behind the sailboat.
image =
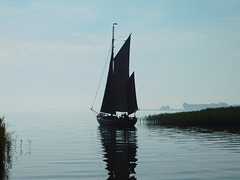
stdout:
[(240, 104), (239, 0), (0, 0), (0, 108), (91, 107), (113, 22), (139, 108)]

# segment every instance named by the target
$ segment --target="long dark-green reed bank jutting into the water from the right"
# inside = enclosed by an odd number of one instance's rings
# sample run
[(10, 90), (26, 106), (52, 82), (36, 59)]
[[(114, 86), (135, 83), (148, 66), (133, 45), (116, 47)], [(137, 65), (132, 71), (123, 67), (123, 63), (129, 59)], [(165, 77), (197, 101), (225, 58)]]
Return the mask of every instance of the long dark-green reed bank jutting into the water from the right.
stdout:
[(144, 121), (162, 126), (240, 127), (240, 106), (154, 114), (145, 116)]

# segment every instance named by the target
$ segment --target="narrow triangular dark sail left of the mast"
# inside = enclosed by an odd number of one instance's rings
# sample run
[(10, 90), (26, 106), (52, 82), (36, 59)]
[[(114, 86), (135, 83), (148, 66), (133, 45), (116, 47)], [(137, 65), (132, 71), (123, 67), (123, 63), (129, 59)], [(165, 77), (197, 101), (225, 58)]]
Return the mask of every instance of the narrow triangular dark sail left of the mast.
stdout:
[(113, 52), (110, 60), (108, 78), (107, 78), (105, 93), (103, 97), (101, 112), (116, 114), (116, 110), (114, 108)]

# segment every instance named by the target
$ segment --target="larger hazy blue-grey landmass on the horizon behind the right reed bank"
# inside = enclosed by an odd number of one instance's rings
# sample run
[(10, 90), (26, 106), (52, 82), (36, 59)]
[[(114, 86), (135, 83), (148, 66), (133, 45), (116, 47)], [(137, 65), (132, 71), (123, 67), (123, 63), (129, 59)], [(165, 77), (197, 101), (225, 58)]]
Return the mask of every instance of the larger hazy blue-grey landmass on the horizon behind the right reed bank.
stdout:
[(211, 103), (211, 104), (188, 104), (183, 103), (183, 108), (186, 110), (202, 110), (207, 108), (219, 108), (219, 107), (228, 107), (227, 103)]

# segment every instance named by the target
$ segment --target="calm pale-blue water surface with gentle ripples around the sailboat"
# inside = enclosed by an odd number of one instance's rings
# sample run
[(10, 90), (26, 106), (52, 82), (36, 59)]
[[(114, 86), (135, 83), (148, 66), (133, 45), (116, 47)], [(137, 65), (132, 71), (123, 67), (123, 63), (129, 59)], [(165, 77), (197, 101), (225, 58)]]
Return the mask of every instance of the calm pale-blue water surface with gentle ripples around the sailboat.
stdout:
[(240, 131), (100, 128), (88, 110), (0, 115), (15, 131), (13, 180), (240, 178)]

